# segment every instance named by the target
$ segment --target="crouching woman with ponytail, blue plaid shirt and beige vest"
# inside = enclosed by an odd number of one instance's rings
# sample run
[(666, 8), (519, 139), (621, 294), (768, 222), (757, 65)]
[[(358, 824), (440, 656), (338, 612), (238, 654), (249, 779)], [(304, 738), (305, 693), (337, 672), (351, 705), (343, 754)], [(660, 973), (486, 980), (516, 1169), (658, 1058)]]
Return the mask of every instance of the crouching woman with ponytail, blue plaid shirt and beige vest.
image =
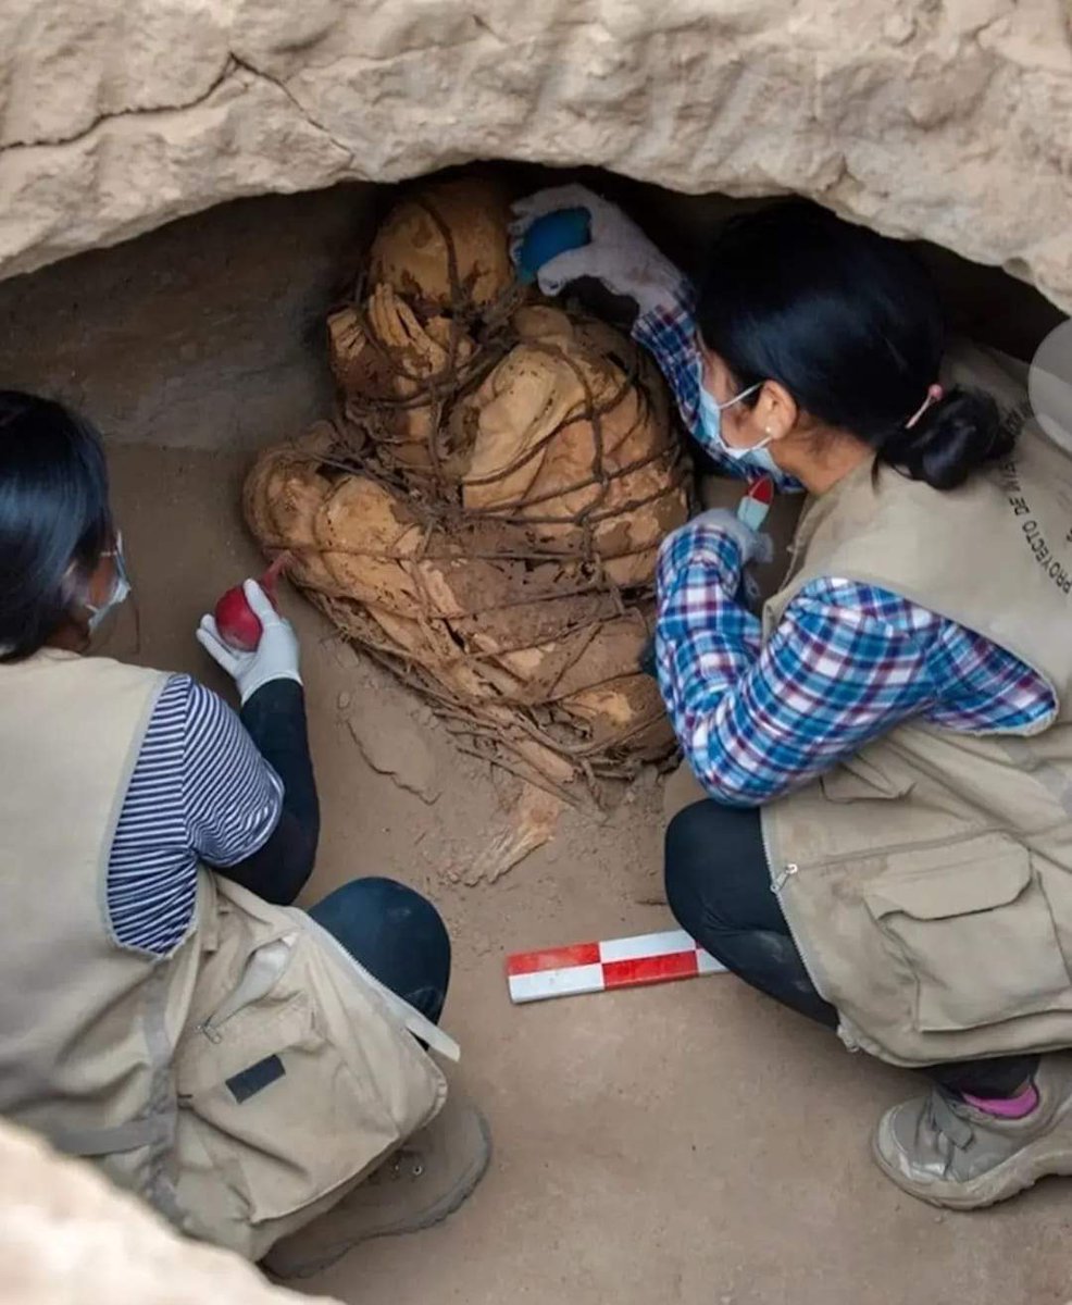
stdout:
[(663, 545), (655, 666), (703, 790), (666, 831), (674, 915), (929, 1075), (874, 1138), (906, 1191), (974, 1208), (1072, 1173), (1072, 465), (1022, 392), (1002, 414), (1000, 360), (947, 351), (906, 247), (777, 204), (716, 235), (696, 291), (591, 192), (518, 226), (578, 205), (591, 240), (541, 288), (631, 295), (703, 449), (807, 493), (762, 613), (769, 542), (736, 514)]

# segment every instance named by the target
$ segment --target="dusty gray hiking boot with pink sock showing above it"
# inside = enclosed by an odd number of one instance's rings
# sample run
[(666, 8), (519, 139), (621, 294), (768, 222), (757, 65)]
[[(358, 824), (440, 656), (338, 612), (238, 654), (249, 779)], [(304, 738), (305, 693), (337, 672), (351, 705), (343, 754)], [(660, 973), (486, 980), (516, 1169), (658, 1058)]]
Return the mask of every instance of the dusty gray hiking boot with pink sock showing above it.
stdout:
[(998, 1118), (940, 1088), (895, 1105), (879, 1121), (875, 1160), (899, 1188), (951, 1210), (1015, 1197), (1047, 1174), (1072, 1174), (1072, 1053), (1043, 1056), (1038, 1105)]

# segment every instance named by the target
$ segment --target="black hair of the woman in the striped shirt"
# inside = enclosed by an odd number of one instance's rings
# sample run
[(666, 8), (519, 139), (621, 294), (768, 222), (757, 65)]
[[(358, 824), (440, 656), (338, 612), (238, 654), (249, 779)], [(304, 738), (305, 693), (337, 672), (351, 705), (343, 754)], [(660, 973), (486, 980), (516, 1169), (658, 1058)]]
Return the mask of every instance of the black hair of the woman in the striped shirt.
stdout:
[(0, 660), (44, 646), (111, 540), (94, 427), (51, 399), (0, 390)]

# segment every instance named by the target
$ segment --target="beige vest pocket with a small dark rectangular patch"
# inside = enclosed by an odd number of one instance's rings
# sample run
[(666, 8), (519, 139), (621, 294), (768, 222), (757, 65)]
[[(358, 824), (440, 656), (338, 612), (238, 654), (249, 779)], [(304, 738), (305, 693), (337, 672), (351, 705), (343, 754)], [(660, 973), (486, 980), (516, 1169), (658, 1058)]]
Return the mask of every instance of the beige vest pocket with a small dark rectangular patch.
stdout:
[(176, 1066), (180, 1105), (254, 1224), (312, 1205), (399, 1141), (372, 1075), (321, 1030), (309, 996), (273, 1005), (239, 1011), (218, 1041), (193, 1034)]

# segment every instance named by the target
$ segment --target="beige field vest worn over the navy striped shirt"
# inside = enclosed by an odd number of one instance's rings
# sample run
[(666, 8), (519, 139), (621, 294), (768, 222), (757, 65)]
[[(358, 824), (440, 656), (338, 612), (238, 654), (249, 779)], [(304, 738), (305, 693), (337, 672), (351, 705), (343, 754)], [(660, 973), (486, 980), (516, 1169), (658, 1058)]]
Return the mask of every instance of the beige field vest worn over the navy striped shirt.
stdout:
[(170, 958), (115, 940), (108, 855), (164, 679), (0, 667), (0, 1112), (260, 1258), (434, 1117), (412, 1034), (456, 1048), (303, 911), (203, 870)]

